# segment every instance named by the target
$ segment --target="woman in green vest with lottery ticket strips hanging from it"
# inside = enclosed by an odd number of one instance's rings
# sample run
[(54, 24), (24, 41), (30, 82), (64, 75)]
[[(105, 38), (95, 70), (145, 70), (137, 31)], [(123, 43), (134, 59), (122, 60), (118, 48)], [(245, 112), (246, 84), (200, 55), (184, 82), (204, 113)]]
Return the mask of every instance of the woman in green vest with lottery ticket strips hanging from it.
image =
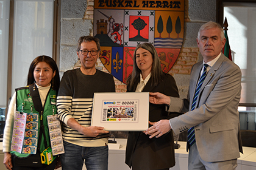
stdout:
[[(59, 85), (59, 70), (55, 61), (45, 55), (35, 58), (29, 67), (27, 86), (16, 89), (10, 101), (3, 140), (4, 165), (7, 169), (51, 170), (57, 165), (56, 156), (53, 157), (54, 160), (49, 165), (41, 164), (40, 153), (49, 146), (51, 147), (47, 117), (57, 114), (56, 99)], [(21, 152), (11, 149), (12, 142), (18, 138), (13, 136), (13, 124), (17, 112), (18, 114), (26, 113), (26, 124), (35, 125), (37, 130), (26, 126), (29, 131), (34, 131), (34, 134), (24, 133), (22, 138), (25, 143), (23, 143)], [(31, 154), (33, 146), (36, 147), (34, 149), (37, 154), (35, 152)]]

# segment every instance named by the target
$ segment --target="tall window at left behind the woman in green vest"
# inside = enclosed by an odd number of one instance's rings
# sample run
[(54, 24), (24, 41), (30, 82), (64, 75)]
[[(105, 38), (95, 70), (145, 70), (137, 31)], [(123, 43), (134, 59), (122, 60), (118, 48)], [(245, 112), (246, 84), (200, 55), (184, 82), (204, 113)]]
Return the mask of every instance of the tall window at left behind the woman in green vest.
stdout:
[(39, 55), (58, 60), (58, 3), (0, 0), (0, 134), (15, 88), (26, 86), (31, 61)]

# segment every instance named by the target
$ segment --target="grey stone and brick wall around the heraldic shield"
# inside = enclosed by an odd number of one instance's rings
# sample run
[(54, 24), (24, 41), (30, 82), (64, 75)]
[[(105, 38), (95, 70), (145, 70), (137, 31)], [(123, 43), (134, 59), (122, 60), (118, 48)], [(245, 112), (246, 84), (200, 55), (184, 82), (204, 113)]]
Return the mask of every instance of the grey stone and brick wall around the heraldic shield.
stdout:
[[(77, 60), (76, 44), (80, 36), (93, 35), (93, 5), (94, 0), (62, 0), (61, 77), (66, 70), (80, 67), (80, 61)], [(185, 0), (184, 41), (179, 58), (169, 70), (169, 74), (176, 80), (181, 98), (187, 97), (191, 67), (202, 60), (196, 38), (201, 25), (208, 21), (216, 21), (216, 0)], [(96, 67), (108, 72), (100, 60)], [(126, 84), (116, 79), (115, 84), (116, 92), (126, 92)]]

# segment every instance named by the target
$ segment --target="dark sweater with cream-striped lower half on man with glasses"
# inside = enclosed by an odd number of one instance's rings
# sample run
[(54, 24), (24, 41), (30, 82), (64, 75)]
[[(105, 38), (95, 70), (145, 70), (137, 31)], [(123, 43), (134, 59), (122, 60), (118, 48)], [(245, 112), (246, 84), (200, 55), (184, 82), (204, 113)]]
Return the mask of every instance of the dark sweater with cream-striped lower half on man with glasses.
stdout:
[(96, 70), (94, 75), (84, 75), (80, 69), (68, 70), (64, 73), (57, 97), (58, 117), (63, 121), (63, 140), (86, 143), (86, 141), (108, 138), (109, 134), (94, 138), (85, 137), (67, 125), (69, 118), (74, 118), (82, 126), (90, 126), (94, 92), (115, 92), (113, 76), (100, 70)]

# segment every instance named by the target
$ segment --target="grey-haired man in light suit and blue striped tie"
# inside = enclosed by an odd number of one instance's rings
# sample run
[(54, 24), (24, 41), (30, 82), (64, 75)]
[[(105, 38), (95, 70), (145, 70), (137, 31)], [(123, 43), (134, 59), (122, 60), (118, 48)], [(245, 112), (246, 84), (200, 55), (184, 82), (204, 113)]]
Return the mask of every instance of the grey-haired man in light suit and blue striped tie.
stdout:
[[(191, 69), (187, 99), (150, 94), (151, 103), (168, 104), (169, 112), (185, 113), (151, 123), (154, 126), (145, 134), (158, 138), (170, 129), (175, 134), (188, 130), (188, 169), (235, 169), (237, 158), (243, 152), (237, 110), (241, 71), (221, 53), (225, 43), (221, 25), (212, 21), (202, 25), (197, 46), (204, 60)], [(205, 72), (204, 64), (207, 64)], [(190, 134), (191, 127), (194, 131)]]

